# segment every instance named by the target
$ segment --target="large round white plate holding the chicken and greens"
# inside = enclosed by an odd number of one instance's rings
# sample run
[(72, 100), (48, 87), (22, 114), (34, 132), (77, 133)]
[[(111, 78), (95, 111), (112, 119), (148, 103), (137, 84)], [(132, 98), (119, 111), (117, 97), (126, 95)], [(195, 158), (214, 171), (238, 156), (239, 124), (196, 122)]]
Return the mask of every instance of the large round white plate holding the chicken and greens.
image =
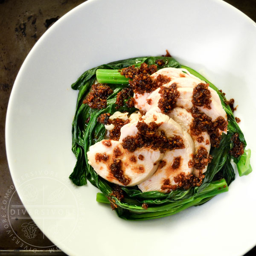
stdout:
[[(256, 24), (220, 0), (89, 0), (58, 20), (24, 61), (6, 119), (12, 178), (38, 227), (68, 255), (241, 256), (250, 250), (256, 244), (255, 170), (237, 174), (229, 192), (207, 204), (143, 222), (124, 221), (98, 204), (91, 184), (73, 186), (77, 91), (70, 84), (99, 64), (168, 49), (236, 100), (255, 169), (255, 42)], [(38, 200), (26, 196), (26, 182)], [(64, 191), (61, 198), (56, 189)], [(53, 203), (73, 211), (67, 218), (37, 218), (37, 205)]]

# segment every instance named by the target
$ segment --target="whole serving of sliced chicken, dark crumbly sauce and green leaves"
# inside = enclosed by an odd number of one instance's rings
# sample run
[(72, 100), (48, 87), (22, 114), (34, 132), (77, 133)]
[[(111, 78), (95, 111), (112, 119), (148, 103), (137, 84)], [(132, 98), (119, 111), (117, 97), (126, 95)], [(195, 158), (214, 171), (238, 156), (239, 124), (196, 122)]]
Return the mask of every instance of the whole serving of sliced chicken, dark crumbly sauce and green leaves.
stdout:
[(126, 220), (173, 215), (228, 191), (249, 174), (250, 149), (233, 99), (170, 55), (85, 71), (72, 123), (70, 179)]

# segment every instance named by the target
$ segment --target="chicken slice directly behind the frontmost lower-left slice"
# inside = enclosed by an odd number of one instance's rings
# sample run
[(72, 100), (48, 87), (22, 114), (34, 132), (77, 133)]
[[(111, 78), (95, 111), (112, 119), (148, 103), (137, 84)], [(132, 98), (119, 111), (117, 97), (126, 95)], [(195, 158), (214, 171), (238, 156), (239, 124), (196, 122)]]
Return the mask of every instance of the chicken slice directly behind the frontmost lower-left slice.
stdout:
[[(154, 190), (167, 192), (168, 190), (163, 189), (163, 183), (165, 180), (169, 180), (169, 184), (175, 185), (175, 176), (181, 172), (184, 172), (185, 175), (193, 172), (193, 168), (189, 168), (188, 165), (188, 162), (192, 160), (192, 157), (195, 154), (193, 140), (177, 122), (163, 113), (146, 113), (146, 115), (140, 119), (140, 122), (142, 121), (147, 124), (150, 122), (160, 124), (157, 131), (164, 131), (166, 137), (179, 136), (183, 140), (185, 148), (166, 150), (157, 171), (149, 177), (148, 180), (145, 180), (138, 185), (143, 192)], [(121, 128), (119, 141), (122, 142), (122, 140), (127, 136), (135, 136), (138, 132), (136, 125), (137, 123), (128, 123), (124, 125)], [(164, 165), (164, 163), (166, 164)]]

